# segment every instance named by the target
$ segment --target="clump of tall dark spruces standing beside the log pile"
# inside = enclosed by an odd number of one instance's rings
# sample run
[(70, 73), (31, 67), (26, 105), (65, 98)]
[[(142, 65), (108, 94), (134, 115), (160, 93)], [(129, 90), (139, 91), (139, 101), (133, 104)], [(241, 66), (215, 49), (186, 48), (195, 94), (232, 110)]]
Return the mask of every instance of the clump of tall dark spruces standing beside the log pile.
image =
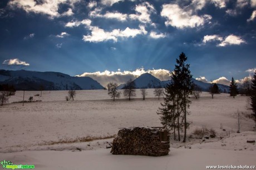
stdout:
[(189, 123), (186, 121), (188, 108), (190, 104), (189, 95), (192, 94), (192, 75), (190, 74), (189, 64), (185, 61), (187, 57), (184, 53), (176, 59), (172, 81), (165, 86), (164, 103), (159, 108), (157, 114), (161, 114), (160, 120), (164, 126), (174, 130), (174, 139), (176, 139), (176, 130), (178, 130), (178, 140), (180, 141), (180, 129), (184, 127), (184, 139), (186, 142), (186, 129)]

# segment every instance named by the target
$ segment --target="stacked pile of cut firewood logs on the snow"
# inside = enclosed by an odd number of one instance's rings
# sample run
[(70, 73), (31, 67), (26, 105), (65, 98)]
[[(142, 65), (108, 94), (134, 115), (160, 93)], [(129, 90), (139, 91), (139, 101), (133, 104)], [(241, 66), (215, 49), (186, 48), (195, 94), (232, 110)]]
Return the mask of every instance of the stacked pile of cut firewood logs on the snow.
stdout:
[(119, 130), (111, 153), (164, 156), (169, 149), (170, 136), (162, 127), (130, 127)]

